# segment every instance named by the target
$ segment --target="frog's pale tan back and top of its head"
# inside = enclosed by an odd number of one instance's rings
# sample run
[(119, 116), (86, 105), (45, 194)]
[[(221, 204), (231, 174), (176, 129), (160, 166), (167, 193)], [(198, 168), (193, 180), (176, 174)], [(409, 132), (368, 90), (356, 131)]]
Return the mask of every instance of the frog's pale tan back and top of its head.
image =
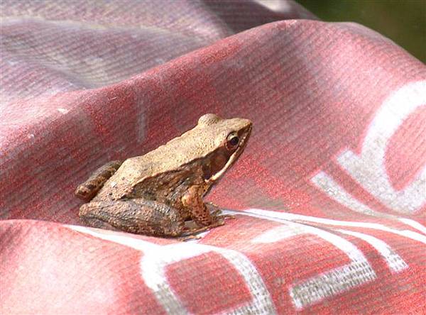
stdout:
[[(132, 197), (136, 185), (141, 192), (141, 186), (143, 189), (158, 187), (155, 186), (155, 181), (168, 189), (173, 188), (168, 180), (180, 180), (188, 176), (187, 172), (196, 172), (204, 158), (223, 145), (229, 133), (246, 130), (250, 126), (251, 121), (247, 119), (222, 119), (214, 114), (203, 115), (197, 126), (182, 136), (160, 145), (146, 155), (126, 160), (104, 184), (94, 200)], [(168, 176), (172, 173), (173, 176)], [(144, 182), (151, 179), (155, 179), (154, 184), (143, 186)]]

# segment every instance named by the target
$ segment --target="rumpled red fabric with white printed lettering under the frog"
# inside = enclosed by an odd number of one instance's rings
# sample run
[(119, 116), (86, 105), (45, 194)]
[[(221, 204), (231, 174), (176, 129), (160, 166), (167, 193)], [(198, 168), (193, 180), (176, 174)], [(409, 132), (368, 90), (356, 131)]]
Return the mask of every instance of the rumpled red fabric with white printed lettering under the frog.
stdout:
[[(2, 1), (1, 314), (425, 314), (426, 67), (291, 1)], [(205, 113), (253, 121), (198, 241), (75, 187)]]

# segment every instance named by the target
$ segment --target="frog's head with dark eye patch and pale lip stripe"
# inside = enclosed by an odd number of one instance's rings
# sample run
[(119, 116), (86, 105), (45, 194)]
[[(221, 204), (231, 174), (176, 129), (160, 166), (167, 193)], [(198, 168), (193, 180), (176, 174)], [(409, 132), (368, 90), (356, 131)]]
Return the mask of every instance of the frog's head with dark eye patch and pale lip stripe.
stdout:
[(198, 120), (198, 131), (204, 135), (204, 180), (216, 182), (238, 160), (250, 137), (252, 123), (244, 118), (220, 118), (205, 114)]

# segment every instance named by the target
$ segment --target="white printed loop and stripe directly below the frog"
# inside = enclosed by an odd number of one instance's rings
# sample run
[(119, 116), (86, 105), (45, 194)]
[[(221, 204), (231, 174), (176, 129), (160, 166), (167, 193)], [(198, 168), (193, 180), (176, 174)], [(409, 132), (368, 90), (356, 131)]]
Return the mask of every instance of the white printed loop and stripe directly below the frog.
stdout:
[(249, 258), (236, 250), (217, 248), (211, 245), (197, 243), (173, 243), (170, 245), (156, 245), (148, 241), (120, 235), (114, 231), (104, 231), (97, 228), (82, 226), (67, 226), (72, 230), (86, 233), (105, 241), (126, 245), (130, 248), (143, 251), (141, 258), (141, 276), (147, 286), (155, 294), (158, 302), (168, 314), (189, 314), (182, 305), (178, 296), (165, 277), (165, 267), (170, 263), (193, 258), (204, 253), (214, 252), (222, 255), (238, 270), (244, 278), (252, 301), (238, 309), (226, 311), (226, 314), (276, 314), (271, 294), (268, 292), (261, 275)]

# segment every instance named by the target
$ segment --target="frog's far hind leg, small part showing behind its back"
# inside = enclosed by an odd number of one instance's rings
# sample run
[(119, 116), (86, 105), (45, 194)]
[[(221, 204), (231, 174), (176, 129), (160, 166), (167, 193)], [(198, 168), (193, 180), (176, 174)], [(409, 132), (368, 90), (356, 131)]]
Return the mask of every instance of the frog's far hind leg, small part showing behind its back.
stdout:
[(124, 161), (111, 161), (95, 170), (86, 182), (75, 189), (75, 195), (88, 202), (96, 196), (105, 182), (114, 175)]

